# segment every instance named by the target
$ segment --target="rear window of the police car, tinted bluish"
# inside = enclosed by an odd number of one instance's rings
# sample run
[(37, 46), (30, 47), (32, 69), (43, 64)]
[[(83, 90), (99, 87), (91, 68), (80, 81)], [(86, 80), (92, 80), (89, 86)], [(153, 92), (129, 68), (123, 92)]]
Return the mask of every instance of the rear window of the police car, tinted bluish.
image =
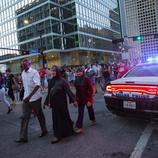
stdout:
[(158, 64), (139, 65), (133, 68), (125, 77), (158, 76)]

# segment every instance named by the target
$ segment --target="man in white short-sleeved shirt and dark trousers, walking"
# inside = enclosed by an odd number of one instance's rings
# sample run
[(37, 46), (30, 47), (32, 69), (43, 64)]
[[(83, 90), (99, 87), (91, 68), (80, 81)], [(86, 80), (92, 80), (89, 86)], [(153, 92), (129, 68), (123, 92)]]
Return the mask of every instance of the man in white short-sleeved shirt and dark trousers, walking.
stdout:
[(23, 99), (23, 116), (21, 120), (20, 137), (16, 140), (17, 143), (26, 143), (28, 141), (28, 123), (32, 109), (39, 120), (42, 133), (40, 137), (47, 134), (45, 117), (41, 106), (41, 92), (40, 92), (40, 76), (37, 70), (31, 67), (29, 59), (23, 60), (22, 81), (24, 86)]

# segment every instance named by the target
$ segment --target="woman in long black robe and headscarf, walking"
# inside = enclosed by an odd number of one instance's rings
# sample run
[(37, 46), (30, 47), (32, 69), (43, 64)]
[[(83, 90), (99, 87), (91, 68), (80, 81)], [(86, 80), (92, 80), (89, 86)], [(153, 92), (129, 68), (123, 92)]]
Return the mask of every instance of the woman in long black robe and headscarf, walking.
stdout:
[(48, 85), (48, 94), (44, 105), (52, 108), (54, 138), (52, 144), (59, 142), (62, 138), (74, 134), (73, 122), (70, 118), (67, 95), (70, 103), (77, 105), (75, 95), (71, 92), (69, 84), (60, 75), (57, 66), (52, 67), (52, 79)]

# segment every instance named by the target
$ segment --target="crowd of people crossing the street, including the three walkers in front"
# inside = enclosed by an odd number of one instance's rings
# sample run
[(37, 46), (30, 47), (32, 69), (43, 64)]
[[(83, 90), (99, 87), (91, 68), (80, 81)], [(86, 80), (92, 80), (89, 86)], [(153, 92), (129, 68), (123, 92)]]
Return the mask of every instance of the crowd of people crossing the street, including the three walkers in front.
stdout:
[[(78, 67), (53, 66), (51, 69), (36, 70), (29, 59), (22, 62), (22, 71), (13, 75), (10, 69), (5, 74), (0, 73), (0, 100), (8, 107), (9, 114), (16, 106), (16, 101), (23, 101), (19, 139), (17, 143), (28, 142), (28, 123), (31, 113), (37, 116), (41, 135), (47, 135), (47, 127), (43, 108), (52, 109), (54, 137), (51, 143), (57, 143), (62, 138), (83, 132), (84, 109), (87, 107), (91, 125), (94, 125), (95, 113), (93, 109), (94, 95), (98, 89), (102, 92), (113, 79), (122, 77), (129, 66), (125, 62), (119, 64), (88, 64)], [(75, 88), (75, 94), (71, 87)], [(47, 93), (42, 108), (41, 92)], [(8, 101), (6, 94), (11, 101)], [(15, 97), (17, 94), (17, 97)], [(74, 125), (71, 120), (69, 103), (78, 108), (78, 117)]]

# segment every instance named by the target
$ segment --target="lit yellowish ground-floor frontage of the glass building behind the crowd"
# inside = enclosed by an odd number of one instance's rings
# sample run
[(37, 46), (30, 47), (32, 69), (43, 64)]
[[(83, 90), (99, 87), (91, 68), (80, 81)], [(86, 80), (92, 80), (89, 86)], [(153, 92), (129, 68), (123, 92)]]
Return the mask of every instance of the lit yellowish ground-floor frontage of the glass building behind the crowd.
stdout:
[[(51, 68), (52, 65), (67, 65), (67, 66), (77, 66), (94, 64), (99, 62), (100, 64), (111, 63), (117, 58), (119, 54), (105, 53), (105, 52), (92, 52), (92, 51), (72, 51), (72, 52), (49, 52), (44, 54), (45, 67)], [(29, 58), (33, 67), (40, 69), (43, 67), (43, 57), (41, 54), (33, 56), (23, 56), (20, 59), (12, 59), (6, 61), (5, 64), (7, 68), (11, 68), (13, 73), (21, 72), (21, 63), (24, 58)]]

